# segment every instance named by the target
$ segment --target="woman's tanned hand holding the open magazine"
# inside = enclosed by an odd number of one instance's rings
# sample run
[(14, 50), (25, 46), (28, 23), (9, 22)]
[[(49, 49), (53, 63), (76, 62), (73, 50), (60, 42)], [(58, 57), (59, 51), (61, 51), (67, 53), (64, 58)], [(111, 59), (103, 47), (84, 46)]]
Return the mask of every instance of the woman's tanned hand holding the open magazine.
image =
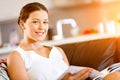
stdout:
[(75, 74), (67, 73), (62, 80), (85, 80), (89, 77), (92, 69), (85, 68)]

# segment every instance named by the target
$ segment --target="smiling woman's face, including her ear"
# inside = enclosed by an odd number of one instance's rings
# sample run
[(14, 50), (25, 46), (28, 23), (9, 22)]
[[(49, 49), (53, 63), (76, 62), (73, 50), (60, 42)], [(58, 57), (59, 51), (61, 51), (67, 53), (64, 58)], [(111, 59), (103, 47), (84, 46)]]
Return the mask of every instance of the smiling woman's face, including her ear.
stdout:
[(34, 11), (23, 23), (24, 37), (32, 41), (42, 41), (48, 32), (48, 13), (44, 10)]

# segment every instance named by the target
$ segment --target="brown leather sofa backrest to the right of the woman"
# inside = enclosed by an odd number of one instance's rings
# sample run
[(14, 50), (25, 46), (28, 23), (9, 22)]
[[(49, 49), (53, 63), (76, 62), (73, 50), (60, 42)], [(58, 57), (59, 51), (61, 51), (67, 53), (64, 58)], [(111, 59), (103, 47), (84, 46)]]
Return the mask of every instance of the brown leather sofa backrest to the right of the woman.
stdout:
[(110, 37), (57, 45), (67, 55), (71, 65), (103, 70), (120, 61), (120, 38)]

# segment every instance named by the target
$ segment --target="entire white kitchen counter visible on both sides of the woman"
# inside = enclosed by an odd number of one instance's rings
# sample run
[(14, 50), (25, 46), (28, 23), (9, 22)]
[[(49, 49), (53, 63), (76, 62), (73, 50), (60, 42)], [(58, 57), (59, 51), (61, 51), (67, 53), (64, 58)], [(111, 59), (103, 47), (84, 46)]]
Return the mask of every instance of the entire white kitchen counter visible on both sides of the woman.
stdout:
[[(110, 38), (110, 37), (120, 37), (120, 34), (90, 34), (90, 35), (81, 35), (79, 37), (71, 37), (71, 38), (64, 38), (61, 40), (51, 40), (51, 41), (43, 41), (40, 43), (41, 45), (53, 46), (53, 45), (61, 45), (61, 44), (68, 44), (68, 43), (75, 43), (75, 42), (83, 42), (101, 38)], [(4, 47), (0, 48), (0, 54), (9, 54), (13, 51), (17, 46), (14, 47)]]

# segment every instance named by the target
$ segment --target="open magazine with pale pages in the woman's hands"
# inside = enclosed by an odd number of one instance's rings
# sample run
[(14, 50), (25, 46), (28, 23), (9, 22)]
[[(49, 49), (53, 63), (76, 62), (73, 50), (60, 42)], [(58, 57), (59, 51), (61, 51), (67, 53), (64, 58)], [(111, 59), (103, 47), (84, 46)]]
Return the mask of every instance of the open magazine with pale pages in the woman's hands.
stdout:
[[(66, 70), (66, 72), (63, 73), (63, 75), (60, 77), (59, 80), (61, 80), (65, 76), (66, 73), (70, 72), (70, 73), (74, 74), (74, 73), (77, 73), (78, 71), (82, 70), (83, 68), (85, 68), (85, 67), (71, 65)], [(93, 69), (93, 71), (89, 77), (93, 80), (102, 80), (103, 77), (106, 76), (107, 74), (109, 74), (111, 72), (116, 72), (116, 71), (120, 71), (120, 63), (112, 64), (102, 71), (98, 71), (98, 70)]]

